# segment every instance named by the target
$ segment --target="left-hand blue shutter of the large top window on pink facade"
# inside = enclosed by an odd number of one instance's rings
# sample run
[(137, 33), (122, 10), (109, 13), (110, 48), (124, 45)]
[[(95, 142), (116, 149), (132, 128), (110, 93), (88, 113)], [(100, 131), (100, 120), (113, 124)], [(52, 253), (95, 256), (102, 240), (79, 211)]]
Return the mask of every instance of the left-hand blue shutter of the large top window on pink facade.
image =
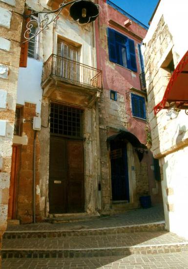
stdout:
[(108, 37), (109, 60), (113, 63), (117, 63), (115, 30), (107, 28), (107, 37)]

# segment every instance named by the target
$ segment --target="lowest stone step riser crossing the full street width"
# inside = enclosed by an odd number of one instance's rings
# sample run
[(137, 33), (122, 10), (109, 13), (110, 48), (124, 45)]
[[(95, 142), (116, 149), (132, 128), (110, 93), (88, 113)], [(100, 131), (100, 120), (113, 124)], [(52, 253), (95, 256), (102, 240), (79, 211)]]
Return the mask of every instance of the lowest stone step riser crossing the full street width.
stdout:
[(82, 258), (110, 257), (188, 252), (188, 244), (153, 245), (134, 247), (108, 247), (92, 249), (2, 249), (2, 259), (7, 258)]

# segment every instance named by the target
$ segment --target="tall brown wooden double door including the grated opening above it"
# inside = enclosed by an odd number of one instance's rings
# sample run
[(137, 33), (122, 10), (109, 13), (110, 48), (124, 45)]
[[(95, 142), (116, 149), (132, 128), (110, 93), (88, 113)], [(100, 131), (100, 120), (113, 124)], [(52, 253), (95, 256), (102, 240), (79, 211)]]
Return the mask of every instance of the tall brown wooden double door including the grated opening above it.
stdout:
[(84, 212), (83, 111), (51, 104), (49, 209), (51, 214)]

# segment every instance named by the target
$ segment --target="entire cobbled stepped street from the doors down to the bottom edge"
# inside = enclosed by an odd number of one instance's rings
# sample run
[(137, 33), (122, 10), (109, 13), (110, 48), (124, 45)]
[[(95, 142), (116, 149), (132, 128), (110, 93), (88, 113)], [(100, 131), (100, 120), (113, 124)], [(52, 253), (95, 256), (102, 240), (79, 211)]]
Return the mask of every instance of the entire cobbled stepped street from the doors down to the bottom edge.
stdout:
[(161, 206), (85, 217), (8, 226), (2, 269), (188, 268), (188, 242), (166, 231)]

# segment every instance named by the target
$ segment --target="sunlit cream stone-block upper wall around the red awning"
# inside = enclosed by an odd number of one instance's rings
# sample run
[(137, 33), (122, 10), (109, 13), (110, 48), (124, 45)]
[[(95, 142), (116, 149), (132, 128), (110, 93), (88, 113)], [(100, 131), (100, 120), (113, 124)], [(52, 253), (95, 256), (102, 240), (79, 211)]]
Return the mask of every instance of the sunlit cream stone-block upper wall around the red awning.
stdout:
[(176, 67), (180, 59), (175, 50), (173, 37), (162, 15), (152, 38), (146, 43), (144, 51), (152, 152), (156, 158), (188, 144), (186, 142), (188, 126), (185, 125), (187, 119), (185, 112), (182, 111), (177, 116), (167, 110), (162, 110), (157, 115), (154, 115), (153, 112), (154, 106), (163, 99), (171, 77), (167, 68), (163, 67), (170, 51)]

